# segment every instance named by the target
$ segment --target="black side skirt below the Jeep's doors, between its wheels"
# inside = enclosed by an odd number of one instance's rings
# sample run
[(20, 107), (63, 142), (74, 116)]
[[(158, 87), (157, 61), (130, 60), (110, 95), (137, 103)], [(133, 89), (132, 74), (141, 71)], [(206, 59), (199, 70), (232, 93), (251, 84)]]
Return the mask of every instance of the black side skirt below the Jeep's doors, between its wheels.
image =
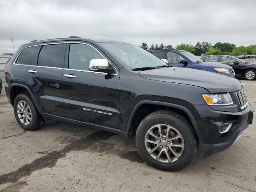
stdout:
[(57, 119), (57, 120), (62, 120), (62, 121), (66, 121), (66, 122), (70, 122), (70, 123), (74, 123), (74, 124), (78, 124), (78, 125), (82, 125), (82, 126), (88, 126), (90, 128), (94, 128), (94, 129), (99, 129), (99, 130), (103, 130), (103, 131), (108, 131), (108, 132), (112, 132), (115, 134), (119, 134), (125, 138), (128, 138), (128, 133), (118, 130), (118, 129), (114, 129), (111, 127), (106, 127), (106, 126), (100, 126), (100, 125), (96, 125), (96, 124), (92, 124), (92, 123), (88, 123), (88, 122), (82, 122), (82, 121), (78, 121), (78, 120), (74, 120), (74, 119), (70, 119), (70, 118), (66, 118), (66, 117), (62, 117), (62, 116), (58, 116), (58, 115), (52, 115), (52, 114), (48, 114), (48, 113), (40, 113), (42, 115), (42, 117), (44, 119)]

